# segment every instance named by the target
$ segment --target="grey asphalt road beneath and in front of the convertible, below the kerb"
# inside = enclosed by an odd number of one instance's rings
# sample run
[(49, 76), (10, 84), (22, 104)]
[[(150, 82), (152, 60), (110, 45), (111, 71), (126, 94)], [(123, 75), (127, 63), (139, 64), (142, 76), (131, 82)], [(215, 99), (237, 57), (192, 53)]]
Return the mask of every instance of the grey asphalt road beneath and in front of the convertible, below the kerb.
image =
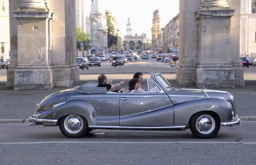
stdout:
[(255, 164), (256, 122), (221, 127), (212, 139), (186, 131), (94, 130), (65, 138), (58, 127), (0, 124), (0, 162), (11, 164)]

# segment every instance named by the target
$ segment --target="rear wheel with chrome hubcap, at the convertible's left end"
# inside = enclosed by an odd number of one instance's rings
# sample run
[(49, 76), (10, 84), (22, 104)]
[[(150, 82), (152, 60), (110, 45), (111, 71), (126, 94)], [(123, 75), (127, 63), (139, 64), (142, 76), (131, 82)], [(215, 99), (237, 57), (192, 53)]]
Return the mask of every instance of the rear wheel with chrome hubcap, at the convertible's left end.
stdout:
[(77, 114), (71, 114), (61, 118), (59, 125), (62, 134), (68, 138), (81, 138), (88, 132), (86, 118)]

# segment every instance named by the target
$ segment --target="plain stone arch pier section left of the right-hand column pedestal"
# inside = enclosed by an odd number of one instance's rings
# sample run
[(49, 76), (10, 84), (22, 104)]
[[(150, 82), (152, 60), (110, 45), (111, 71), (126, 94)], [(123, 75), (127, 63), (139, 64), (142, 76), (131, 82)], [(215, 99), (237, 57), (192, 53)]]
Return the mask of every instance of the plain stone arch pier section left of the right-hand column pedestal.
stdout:
[(179, 84), (193, 85), (196, 81), (197, 22), (195, 12), (201, 0), (179, 1), (179, 62), (176, 65), (176, 81)]

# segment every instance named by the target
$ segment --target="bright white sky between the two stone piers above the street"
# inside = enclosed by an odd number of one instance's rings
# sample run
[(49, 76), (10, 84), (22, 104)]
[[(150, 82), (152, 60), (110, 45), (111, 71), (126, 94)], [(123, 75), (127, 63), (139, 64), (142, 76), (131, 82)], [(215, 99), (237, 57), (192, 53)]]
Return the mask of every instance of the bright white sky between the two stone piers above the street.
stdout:
[(153, 14), (158, 9), (161, 17), (160, 26), (163, 28), (179, 13), (179, 0), (98, 0), (99, 10), (103, 8), (111, 12), (118, 22), (123, 35), (126, 34), (126, 24), (130, 17), (132, 34), (146, 33), (151, 39)]

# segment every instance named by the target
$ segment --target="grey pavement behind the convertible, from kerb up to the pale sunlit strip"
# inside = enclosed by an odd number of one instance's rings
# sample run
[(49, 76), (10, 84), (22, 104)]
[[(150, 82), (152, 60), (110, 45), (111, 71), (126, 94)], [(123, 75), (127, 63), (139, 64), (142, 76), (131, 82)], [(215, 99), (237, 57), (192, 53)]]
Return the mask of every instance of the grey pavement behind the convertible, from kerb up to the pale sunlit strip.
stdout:
[[(89, 81), (97, 82), (97, 74), (80, 74), (80, 82), (73, 86), (78, 86)], [(113, 83), (125, 80), (125, 84), (130, 80), (133, 74), (130, 73), (106, 73)], [(170, 83), (177, 88), (196, 88), (195, 86), (182, 86), (175, 81), (174, 73), (163, 73)], [(144, 74), (144, 81), (149, 77)], [(239, 118), (242, 121), (256, 121), (256, 77), (244, 75), (245, 87), (241, 88), (225, 88), (213, 89), (230, 92), (236, 100), (236, 107)], [(143, 83), (143, 88), (146, 88), (146, 83)], [(55, 87), (51, 90), (18, 90), (5, 88), (6, 77), (0, 76), (0, 123), (28, 123), (29, 117), (33, 115), (36, 104), (39, 103), (45, 96), (54, 92), (68, 89), (64, 87)], [(72, 86), (72, 87), (73, 87)], [(124, 85), (124, 88), (128, 86)]]

